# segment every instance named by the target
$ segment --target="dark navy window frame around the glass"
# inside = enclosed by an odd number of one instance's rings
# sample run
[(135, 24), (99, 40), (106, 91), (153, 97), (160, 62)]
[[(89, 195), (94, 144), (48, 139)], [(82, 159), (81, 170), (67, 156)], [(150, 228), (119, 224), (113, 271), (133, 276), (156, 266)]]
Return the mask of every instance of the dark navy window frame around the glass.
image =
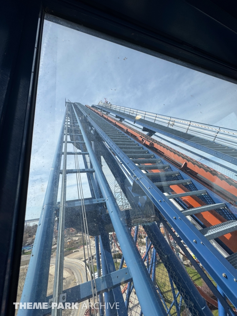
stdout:
[[(112, 4), (111, 4), (112, 3)], [(230, 63), (231, 47), (227, 57), (213, 56), (200, 47), (192, 46), (162, 30), (149, 26), (142, 19), (144, 12), (159, 9), (159, 2), (141, 0), (109, 1), (75, 0), (12, 0), (2, 3), (0, 10), (0, 142), (2, 154), (0, 169), (0, 305), (2, 315), (15, 313), (21, 245), (24, 230), (28, 175), (40, 48), (45, 12), (66, 21), (88, 27), (96, 36), (117, 42), (156, 57), (228, 80), (237, 82), (237, 62)], [(161, 2), (160, 2), (161, 3)], [(139, 5), (138, 5), (139, 4)], [(167, 6), (167, 18), (172, 8), (184, 5), (184, 14), (194, 14), (197, 20), (208, 19), (207, 32), (216, 34), (217, 46), (223, 45), (219, 32), (227, 32), (237, 38), (234, 1), (171, 0)], [(130, 6), (129, 6), (130, 5)], [(219, 6), (222, 5), (222, 8)], [(117, 6), (117, 7), (116, 7)], [(173, 6), (173, 7), (172, 7)], [(164, 8), (163, 8), (164, 9)], [(170, 10), (170, 11), (169, 11)], [(139, 12), (138, 12), (139, 11)], [(193, 13), (194, 12), (194, 13)], [(136, 14), (135, 14), (136, 13)], [(144, 13), (145, 15), (145, 13)], [(132, 18), (133, 16), (133, 18)], [(148, 19), (147, 19), (148, 22)], [(179, 27), (179, 25), (177, 26)], [(189, 25), (187, 24), (188, 30)], [(197, 26), (198, 28), (198, 26)], [(94, 31), (93, 31), (94, 30)], [(85, 31), (85, 30), (84, 30)], [(204, 32), (202, 37), (205, 40)], [(216, 32), (216, 33), (215, 33)], [(188, 32), (187, 32), (188, 33)], [(188, 39), (187, 35), (187, 39)], [(191, 42), (191, 35), (190, 35)], [(208, 43), (206, 43), (208, 48)]]

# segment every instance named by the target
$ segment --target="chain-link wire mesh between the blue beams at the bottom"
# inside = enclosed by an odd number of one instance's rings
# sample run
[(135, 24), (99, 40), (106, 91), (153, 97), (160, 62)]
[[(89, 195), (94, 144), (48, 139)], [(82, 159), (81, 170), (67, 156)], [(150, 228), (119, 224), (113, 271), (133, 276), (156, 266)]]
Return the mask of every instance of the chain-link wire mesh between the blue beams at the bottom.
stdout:
[[(195, 284), (199, 292), (201, 292), (202, 295), (207, 299), (208, 306), (215, 314), (215, 311), (217, 310), (217, 299), (215, 295), (206, 285), (206, 283), (199, 275), (195, 267), (186, 258), (185, 254), (180, 250), (179, 246), (174, 241), (173, 237), (163, 227), (162, 223), (160, 224), (160, 230), (164, 238), (166, 239), (167, 244), (171, 246), (173, 252), (179, 259), (183, 268), (186, 270), (186, 273), (189, 275), (189, 277), (191, 278), (192, 282)], [(175, 234), (175, 232), (173, 233)], [(188, 301), (187, 299), (184, 301), (183, 297), (185, 296), (185, 289), (183, 289), (183, 296), (177, 289), (176, 283), (178, 283), (179, 280), (177, 280), (174, 274), (169, 273), (167, 271), (165, 265), (168, 264), (169, 259), (167, 258), (167, 262), (164, 264), (163, 256), (163, 260), (161, 260), (161, 257), (157, 254), (154, 246), (147, 237), (144, 228), (141, 225), (137, 227), (132, 227), (131, 235), (133, 236), (134, 240), (136, 240), (137, 248), (143, 258), (144, 264), (146, 265), (149, 271), (150, 277), (155, 285), (155, 288), (159, 293), (160, 299), (163, 303), (163, 306), (165, 307), (167, 315), (198, 315), (198, 313), (193, 309), (192, 302)], [(113, 258), (117, 269), (122, 269), (126, 267), (126, 263), (125, 261), (123, 261), (122, 252), (119, 248), (119, 243), (115, 233), (111, 234), (111, 249), (114, 253)], [(193, 258), (195, 258), (194, 255), (192, 256)], [(200, 265), (196, 258), (195, 260)], [(202, 269), (204, 270), (203, 267)], [(208, 273), (206, 271), (205, 273), (216, 286), (216, 283), (211, 279)], [(143, 315), (136, 295), (136, 289), (134, 288), (132, 282), (121, 286), (121, 289), (124, 299), (127, 303), (128, 315)]]

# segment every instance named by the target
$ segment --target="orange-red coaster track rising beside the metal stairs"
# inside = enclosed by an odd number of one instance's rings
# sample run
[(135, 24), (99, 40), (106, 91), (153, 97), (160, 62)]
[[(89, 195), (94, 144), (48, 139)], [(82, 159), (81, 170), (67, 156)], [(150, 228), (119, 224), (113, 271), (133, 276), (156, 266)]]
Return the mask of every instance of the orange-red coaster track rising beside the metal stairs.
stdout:
[[(182, 165), (186, 164), (186, 166), (191, 169), (192, 171), (194, 171), (195, 173), (200, 174), (201, 176), (203, 176), (204, 178), (208, 179), (209, 181), (211, 181), (212, 183), (215, 183), (217, 185), (219, 185), (220, 187), (222, 187), (224, 190), (232, 193), (233, 195), (237, 196), (237, 188), (234, 187), (233, 185), (229, 185), (227, 182), (225, 182), (222, 179), (219, 179), (217, 176), (214, 176), (213, 174), (211, 174), (210, 172), (207, 172), (206, 166), (198, 163), (197, 165), (192, 164), (190, 161), (185, 160), (183, 157), (180, 157), (178, 155), (178, 151), (177, 154), (175, 153), (175, 150), (169, 150), (167, 149), (168, 146), (162, 146), (161, 143), (156, 143), (156, 142), (151, 142), (149, 139), (145, 138), (144, 134), (141, 134), (139, 131), (136, 131), (132, 128), (130, 128), (129, 126), (115, 120), (112, 119), (110, 116), (101, 113), (100, 111), (90, 107), (87, 105), (87, 107), (96, 112), (98, 115), (102, 116), (103, 118), (109, 120), (111, 123), (113, 123), (114, 125), (117, 125), (118, 127), (122, 128), (125, 132), (129, 132), (130, 134), (132, 134), (135, 138), (138, 138), (143, 144), (149, 145), (149, 147), (152, 147), (158, 149), (159, 151), (161, 151), (165, 156), (169, 157), (169, 159), (173, 159), (175, 161), (180, 162)], [(202, 168), (203, 167), (203, 168)], [(209, 168), (211, 169), (211, 168)], [(211, 169), (212, 170), (212, 169)], [(161, 170), (153, 170), (150, 169), (150, 171), (152, 172), (161, 172)], [(217, 171), (215, 171), (216, 173), (218, 173)], [(221, 174), (221, 173), (218, 173)], [(228, 177), (224, 176), (224, 178), (229, 179)], [(231, 179), (232, 180), (232, 179)], [(234, 181), (237, 184), (237, 181)], [(183, 185), (172, 185), (171, 188), (173, 189), (174, 193), (183, 193), (183, 192), (188, 192), (188, 190), (185, 188), (185, 186)], [(205, 203), (199, 199), (198, 197), (181, 197), (181, 199), (190, 206), (190, 208), (192, 207), (198, 207), (198, 206), (202, 206), (205, 205)], [(223, 222), (226, 222), (226, 219), (223, 218), (221, 215), (219, 215), (217, 212), (213, 211), (205, 211), (202, 212), (200, 214), (196, 215), (198, 219), (200, 219), (201, 222), (204, 223), (204, 225), (206, 225), (207, 227), (216, 225), (216, 224), (220, 224)], [(220, 240), (222, 240), (224, 242), (225, 245), (227, 245), (233, 252), (237, 252), (237, 232), (233, 232), (233, 233), (228, 233), (225, 234), (224, 236), (219, 237)]]

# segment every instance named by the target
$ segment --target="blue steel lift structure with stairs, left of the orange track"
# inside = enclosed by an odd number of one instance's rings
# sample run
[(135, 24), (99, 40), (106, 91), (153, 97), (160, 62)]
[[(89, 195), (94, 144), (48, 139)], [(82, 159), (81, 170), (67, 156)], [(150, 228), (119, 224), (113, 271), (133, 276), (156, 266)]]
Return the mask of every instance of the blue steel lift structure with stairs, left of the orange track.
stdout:
[[(65, 136), (65, 137), (64, 137)], [(70, 140), (68, 140), (68, 137)], [(103, 142), (102, 142), (102, 141)], [(67, 151), (67, 144), (73, 143), (74, 152)], [(67, 155), (82, 155), (84, 168), (67, 169)], [(63, 157), (63, 169), (61, 160)], [(108, 184), (103, 173), (101, 159), (105, 161), (113, 176), (114, 188)], [(103, 163), (104, 164), (104, 163)], [(153, 174), (147, 173), (152, 166)], [(151, 167), (150, 167), (151, 168)], [(68, 173), (86, 173), (91, 198), (66, 201), (66, 177)], [(59, 177), (62, 174), (61, 200), (57, 204)], [(199, 208), (188, 209), (177, 193), (172, 198), (170, 185), (184, 185), (190, 195), (198, 196), (206, 203)], [(119, 202), (116, 202), (116, 198)], [(207, 198), (208, 197), (208, 198)], [(95, 236), (98, 275), (91, 281), (63, 290), (63, 244), (64, 228), (74, 227), (83, 232), (83, 207), (88, 221), (88, 234)], [(48, 302), (49, 308), (42, 310), (19, 310), (18, 315), (60, 315), (61, 311), (50, 309), (52, 302), (82, 302), (99, 296), (105, 306), (118, 302), (118, 310), (100, 308), (100, 315), (135, 315), (130, 309), (132, 295), (136, 296), (139, 315), (169, 315), (171, 309), (180, 316), (182, 306), (192, 315), (212, 315), (206, 301), (199, 294), (183, 267), (177, 253), (170, 246), (178, 245), (191, 261), (204, 282), (218, 299), (223, 311), (234, 315), (224, 295), (236, 303), (237, 279), (234, 267), (208, 241), (231, 232), (237, 227), (233, 217), (217, 230), (203, 228), (201, 231), (187, 217), (198, 212), (216, 209), (222, 216), (233, 216), (234, 207), (218, 197), (195, 180), (172, 166), (151, 150), (141, 146), (132, 137), (120, 131), (111, 123), (79, 103), (66, 102), (66, 112), (61, 127), (58, 145), (40, 215), (32, 256), (21, 297), (21, 302)], [(185, 213), (186, 212), (186, 213)], [(47, 296), (48, 275), (51, 259), (51, 243), (55, 219), (58, 219), (58, 243), (53, 295)], [(195, 222), (196, 223), (196, 222)], [(179, 234), (177, 236), (173, 229)], [(197, 225), (196, 225), (197, 226)], [(166, 238), (161, 233), (163, 227)], [(146, 236), (143, 257), (138, 251), (138, 232)], [(111, 235), (108, 233), (115, 232)], [(216, 289), (210, 278), (200, 268), (182, 244), (191, 249), (208, 273), (216, 281)], [(167, 242), (168, 241), (168, 242)], [(169, 245), (170, 244), (170, 245)], [(61, 245), (61, 248), (60, 248)], [(119, 269), (116, 270), (113, 250), (122, 253)], [(173, 247), (174, 249), (174, 247)], [(101, 265), (100, 265), (101, 256)], [(167, 271), (173, 301), (167, 304), (156, 282), (157, 260)], [(215, 262), (215, 266), (213, 266)], [(145, 263), (145, 264), (144, 264)], [(117, 259), (116, 259), (117, 264)], [(125, 267), (124, 267), (125, 266)], [(102, 267), (102, 276), (101, 276)], [(118, 267), (117, 267), (118, 268)], [(93, 271), (92, 271), (93, 272)], [(222, 274), (226, 275), (223, 277)], [(95, 280), (95, 281), (94, 281)], [(124, 288), (121, 286), (124, 284)], [(95, 290), (96, 289), (96, 290)], [(136, 291), (136, 292), (134, 292)], [(134, 294), (136, 293), (136, 294)], [(90, 311), (91, 313), (93, 310)]]

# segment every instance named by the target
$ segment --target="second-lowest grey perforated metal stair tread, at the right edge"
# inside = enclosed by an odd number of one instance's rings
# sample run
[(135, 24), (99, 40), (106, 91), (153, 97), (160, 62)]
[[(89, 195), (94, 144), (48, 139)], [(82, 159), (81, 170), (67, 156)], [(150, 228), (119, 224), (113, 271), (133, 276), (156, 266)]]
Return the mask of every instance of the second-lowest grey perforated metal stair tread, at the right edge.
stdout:
[(231, 220), (211, 227), (201, 229), (200, 232), (207, 240), (215, 239), (237, 230), (237, 220)]

